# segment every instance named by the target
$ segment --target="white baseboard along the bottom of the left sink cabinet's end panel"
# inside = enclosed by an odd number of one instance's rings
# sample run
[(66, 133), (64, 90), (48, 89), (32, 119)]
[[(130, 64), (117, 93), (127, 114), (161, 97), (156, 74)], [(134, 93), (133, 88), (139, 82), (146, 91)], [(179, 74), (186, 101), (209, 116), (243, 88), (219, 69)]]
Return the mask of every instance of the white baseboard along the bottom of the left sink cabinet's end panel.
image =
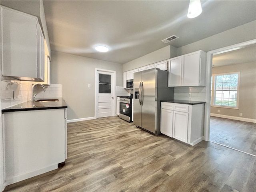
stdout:
[(41, 168), (39, 170), (34, 170), (32, 172), (22, 173), (22, 174), (19, 174), (17, 176), (11, 177), (11, 178), (6, 178), (6, 183), (5, 184), (6, 184), (6, 186), (10, 185), (10, 184), (14, 184), (16, 182), (19, 182), (19, 181), (22, 181), (22, 180), (25, 180), (25, 179), (28, 179), (28, 178), (31, 178), (31, 177), (49, 172), (49, 171), (52, 171), (52, 170), (55, 170), (55, 169), (58, 169), (58, 164), (52, 164), (50, 166)]

